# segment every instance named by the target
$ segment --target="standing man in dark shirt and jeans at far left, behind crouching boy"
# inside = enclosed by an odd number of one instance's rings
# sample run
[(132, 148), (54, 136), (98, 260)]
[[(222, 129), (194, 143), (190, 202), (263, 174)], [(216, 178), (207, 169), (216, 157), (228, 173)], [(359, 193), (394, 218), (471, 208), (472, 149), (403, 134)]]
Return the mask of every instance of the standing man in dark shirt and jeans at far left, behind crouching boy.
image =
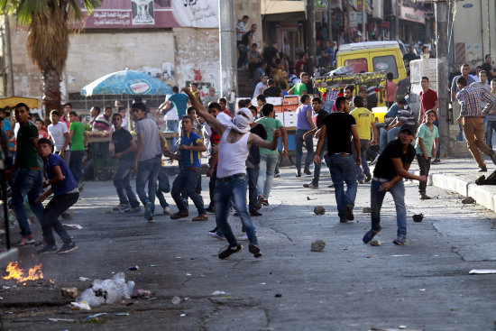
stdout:
[(12, 206), (23, 237), (13, 245), (21, 247), (26, 244), (34, 244), (28, 216), (24, 208), (24, 197), (28, 196), (32, 212), (38, 218), (38, 222), (41, 222), (43, 205), (40, 202), (37, 203), (36, 199), (40, 196), (43, 177), (41, 175), (41, 161), (36, 151), (40, 137), (36, 126), (28, 121), (29, 107), (23, 103), (17, 104), (14, 107), (14, 115), (20, 129), (17, 133), (15, 162), (11, 169), (5, 171), (5, 179), (11, 179), (14, 172), (18, 170), (12, 187)]

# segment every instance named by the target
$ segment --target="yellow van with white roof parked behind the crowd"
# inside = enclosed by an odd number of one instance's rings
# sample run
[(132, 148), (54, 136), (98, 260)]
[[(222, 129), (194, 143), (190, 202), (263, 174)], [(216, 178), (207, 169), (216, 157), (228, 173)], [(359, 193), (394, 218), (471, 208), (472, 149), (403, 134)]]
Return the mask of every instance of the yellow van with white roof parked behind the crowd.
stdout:
[(407, 77), (398, 41), (364, 41), (339, 46), (336, 67), (347, 66), (354, 73), (384, 70), (398, 83)]

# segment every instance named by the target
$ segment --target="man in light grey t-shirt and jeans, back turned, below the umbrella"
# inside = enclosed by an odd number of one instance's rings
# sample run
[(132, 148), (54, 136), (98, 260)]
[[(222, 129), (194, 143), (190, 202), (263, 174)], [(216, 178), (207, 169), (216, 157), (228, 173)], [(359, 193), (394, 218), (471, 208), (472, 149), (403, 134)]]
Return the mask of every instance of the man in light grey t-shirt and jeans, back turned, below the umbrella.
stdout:
[[(144, 205), (144, 219), (152, 223), (155, 212), (155, 191), (157, 178), (161, 170), (161, 136), (159, 126), (146, 117), (146, 106), (141, 102), (134, 102), (131, 106), (136, 120), (136, 133), (138, 134), (138, 150), (134, 158), (133, 170), (136, 175), (136, 192)], [(148, 183), (148, 195), (144, 186)]]

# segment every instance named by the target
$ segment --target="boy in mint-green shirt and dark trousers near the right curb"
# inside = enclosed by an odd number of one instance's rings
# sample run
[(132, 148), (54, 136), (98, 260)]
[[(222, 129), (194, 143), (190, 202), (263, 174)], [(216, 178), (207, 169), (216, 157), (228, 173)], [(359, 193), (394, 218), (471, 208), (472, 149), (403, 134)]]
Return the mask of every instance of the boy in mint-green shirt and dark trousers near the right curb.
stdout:
[[(428, 110), (426, 113), (426, 122), (418, 127), (417, 143), (415, 152), (417, 152), (418, 168), (420, 176), (428, 176), (430, 170), (431, 158), (436, 158), (437, 144), (439, 143), (439, 133), (436, 125), (436, 110)], [(418, 183), (418, 193), (421, 200), (430, 199), (426, 194), (427, 183)]]

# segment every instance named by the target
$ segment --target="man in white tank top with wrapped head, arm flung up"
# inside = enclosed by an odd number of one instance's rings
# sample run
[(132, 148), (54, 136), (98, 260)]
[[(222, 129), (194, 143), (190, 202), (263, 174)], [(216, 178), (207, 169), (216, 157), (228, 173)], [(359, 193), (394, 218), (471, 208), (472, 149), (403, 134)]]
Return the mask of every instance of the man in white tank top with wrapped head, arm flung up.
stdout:
[(214, 200), (216, 204), (216, 225), (221, 229), (229, 246), (225, 251), (218, 254), (219, 259), (226, 259), (233, 253), (243, 250), (238, 244), (236, 237), (227, 223), (231, 201), (234, 208), (241, 216), (241, 222), (246, 230), (250, 244), (248, 250), (255, 258), (261, 257), (262, 253), (258, 245), (255, 227), (248, 215), (246, 208), (246, 158), (252, 145), (275, 150), (277, 148), (280, 131), (276, 130), (274, 140), (269, 143), (262, 140), (256, 134), (250, 133), (250, 124), (253, 123), (253, 114), (247, 108), (241, 108), (232, 119), (230, 125), (222, 124), (216, 117), (210, 115), (188, 87), (183, 91), (188, 95), (191, 105), (197, 109), (198, 115), (205, 118), (209, 124), (220, 135), (218, 145), (217, 181)]

